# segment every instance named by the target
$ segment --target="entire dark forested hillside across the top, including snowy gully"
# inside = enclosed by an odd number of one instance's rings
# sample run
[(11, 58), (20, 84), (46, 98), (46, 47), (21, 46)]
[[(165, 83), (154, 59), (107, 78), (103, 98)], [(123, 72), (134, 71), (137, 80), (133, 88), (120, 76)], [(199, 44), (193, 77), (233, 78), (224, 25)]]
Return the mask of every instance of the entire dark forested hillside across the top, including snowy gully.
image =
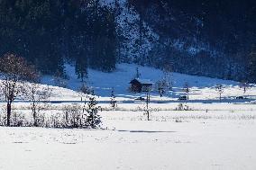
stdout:
[(0, 55), (44, 74), (117, 62), (255, 82), (256, 3), (235, 0), (0, 0)]

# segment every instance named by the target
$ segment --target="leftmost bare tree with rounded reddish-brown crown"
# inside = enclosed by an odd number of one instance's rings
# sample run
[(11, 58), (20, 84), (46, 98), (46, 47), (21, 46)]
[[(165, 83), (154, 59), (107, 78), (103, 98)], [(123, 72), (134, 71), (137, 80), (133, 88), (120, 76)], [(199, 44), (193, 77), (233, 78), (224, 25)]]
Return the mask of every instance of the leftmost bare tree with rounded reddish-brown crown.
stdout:
[(7, 103), (6, 125), (10, 126), (12, 103), (23, 92), (23, 82), (36, 80), (38, 76), (24, 58), (9, 53), (0, 58), (0, 74), (3, 76), (1, 92)]

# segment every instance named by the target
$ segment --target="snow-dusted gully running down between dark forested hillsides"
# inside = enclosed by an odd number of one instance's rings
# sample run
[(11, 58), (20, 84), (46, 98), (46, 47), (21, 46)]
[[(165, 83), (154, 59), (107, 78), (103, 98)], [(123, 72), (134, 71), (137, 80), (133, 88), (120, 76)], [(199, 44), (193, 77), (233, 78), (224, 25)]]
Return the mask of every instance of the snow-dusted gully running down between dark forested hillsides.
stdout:
[(101, 0), (100, 3), (119, 11), (115, 13), (116, 32), (119, 37), (123, 37), (119, 59), (131, 63), (145, 62), (147, 58), (144, 57), (148, 56), (154, 42), (159, 40), (159, 35), (142, 21), (132, 6), (128, 7), (127, 0)]

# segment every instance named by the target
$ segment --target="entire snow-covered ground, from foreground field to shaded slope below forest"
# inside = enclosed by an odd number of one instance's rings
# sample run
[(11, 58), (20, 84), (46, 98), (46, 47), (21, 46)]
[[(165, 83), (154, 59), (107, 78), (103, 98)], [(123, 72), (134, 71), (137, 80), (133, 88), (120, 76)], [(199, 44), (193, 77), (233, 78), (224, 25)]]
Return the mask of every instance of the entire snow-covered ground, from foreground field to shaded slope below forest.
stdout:
[[(145, 103), (134, 102), (144, 94), (127, 92), (136, 67), (118, 65), (114, 73), (89, 70), (88, 85), (102, 102), (102, 130), (0, 127), (0, 170), (256, 169), (255, 85), (243, 94), (237, 82), (174, 73), (172, 94), (160, 98), (151, 93), (151, 121), (146, 121)], [(150, 67), (139, 70), (153, 82), (163, 76)], [(69, 65), (67, 73), (69, 89), (50, 86), (54, 103), (42, 103), (42, 113), (57, 114), (67, 105), (83, 104), (56, 103), (86, 99), (75, 91), (81, 83)], [(190, 86), (189, 101), (178, 101), (185, 82)], [(54, 85), (50, 76), (43, 83)], [(225, 87), (222, 103), (215, 91), (217, 84)], [(112, 87), (118, 101), (115, 110), (109, 103)], [(235, 100), (240, 95), (248, 99)], [(0, 107), (5, 112), (5, 103)], [(13, 109), (32, 116), (30, 103), (14, 103)]]

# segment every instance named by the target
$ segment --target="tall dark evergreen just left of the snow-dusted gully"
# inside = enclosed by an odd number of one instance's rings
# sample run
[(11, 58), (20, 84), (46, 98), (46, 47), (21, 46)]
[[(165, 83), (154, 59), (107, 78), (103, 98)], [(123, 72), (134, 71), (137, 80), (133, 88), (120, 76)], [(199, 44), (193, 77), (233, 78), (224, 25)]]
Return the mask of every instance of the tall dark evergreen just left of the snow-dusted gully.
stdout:
[(93, 22), (93, 54), (89, 59), (90, 67), (111, 72), (115, 69), (116, 45), (114, 13), (106, 8), (96, 13)]

